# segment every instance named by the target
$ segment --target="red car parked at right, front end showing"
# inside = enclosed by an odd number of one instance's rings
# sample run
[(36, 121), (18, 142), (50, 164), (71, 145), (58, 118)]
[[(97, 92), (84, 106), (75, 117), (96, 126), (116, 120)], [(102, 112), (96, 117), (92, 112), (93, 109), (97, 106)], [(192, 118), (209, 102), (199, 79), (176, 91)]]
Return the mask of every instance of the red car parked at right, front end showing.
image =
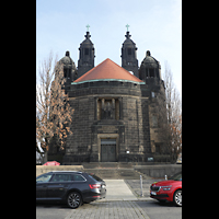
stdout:
[(182, 172), (176, 173), (168, 181), (160, 181), (150, 186), (150, 197), (159, 201), (173, 201), (182, 206)]

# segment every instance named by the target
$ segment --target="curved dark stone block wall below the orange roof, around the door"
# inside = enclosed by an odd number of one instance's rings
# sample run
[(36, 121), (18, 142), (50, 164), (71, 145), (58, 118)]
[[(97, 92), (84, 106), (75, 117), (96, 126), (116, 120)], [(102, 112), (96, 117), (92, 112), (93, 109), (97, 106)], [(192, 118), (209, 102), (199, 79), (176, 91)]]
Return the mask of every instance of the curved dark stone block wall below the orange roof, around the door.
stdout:
[[(102, 99), (116, 100), (112, 110), (115, 119), (100, 119)], [(145, 161), (146, 154), (150, 157), (148, 97), (141, 99), (139, 84), (97, 81), (71, 85), (69, 100), (74, 113), (66, 163), (101, 161), (103, 138), (116, 139), (117, 161)]]

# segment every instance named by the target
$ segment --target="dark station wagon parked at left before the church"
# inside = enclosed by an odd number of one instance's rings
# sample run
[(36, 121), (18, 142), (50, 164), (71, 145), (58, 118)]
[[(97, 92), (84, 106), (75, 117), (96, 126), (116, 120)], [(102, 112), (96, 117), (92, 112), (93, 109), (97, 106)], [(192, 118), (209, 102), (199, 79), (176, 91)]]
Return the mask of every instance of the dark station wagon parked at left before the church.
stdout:
[(105, 198), (106, 184), (94, 174), (53, 171), (36, 177), (36, 201), (59, 200), (70, 208)]

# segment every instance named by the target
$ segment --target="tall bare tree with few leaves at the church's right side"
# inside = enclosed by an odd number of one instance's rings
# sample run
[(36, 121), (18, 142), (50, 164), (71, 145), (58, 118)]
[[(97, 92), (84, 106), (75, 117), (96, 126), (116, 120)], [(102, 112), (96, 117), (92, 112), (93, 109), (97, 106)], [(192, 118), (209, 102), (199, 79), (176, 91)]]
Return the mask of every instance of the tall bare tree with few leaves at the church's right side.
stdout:
[(182, 151), (182, 102), (168, 62), (165, 62), (163, 82), (164, 89), (161, 83), (150, 107), (151, 114), (157, 118), (155, 138), (159, 146), (158, 151), (153, 146), (153, 151), (157, 153), (155, 160), (175, 162)]

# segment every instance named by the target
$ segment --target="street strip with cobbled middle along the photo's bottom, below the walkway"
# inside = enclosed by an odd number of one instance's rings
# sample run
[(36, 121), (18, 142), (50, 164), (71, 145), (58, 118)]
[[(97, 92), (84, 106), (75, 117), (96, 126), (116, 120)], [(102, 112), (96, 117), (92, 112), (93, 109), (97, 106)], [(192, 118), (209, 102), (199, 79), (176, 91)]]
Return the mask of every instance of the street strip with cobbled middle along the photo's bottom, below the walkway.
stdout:
[(61, 204), (36, 204), (36, 219), (181, 219), (182, 208), (157, 200), (93, 201), (78, 209)]

